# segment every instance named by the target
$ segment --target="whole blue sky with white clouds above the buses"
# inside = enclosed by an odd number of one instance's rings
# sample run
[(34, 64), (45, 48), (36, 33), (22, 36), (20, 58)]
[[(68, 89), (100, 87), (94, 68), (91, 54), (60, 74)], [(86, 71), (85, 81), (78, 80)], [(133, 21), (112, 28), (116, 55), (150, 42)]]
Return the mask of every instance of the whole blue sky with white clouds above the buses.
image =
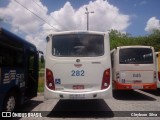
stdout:
[[(160, 29), (160, 0), (0, 0), (0, 26), (45, 51), (48, 34), (118, 30), (145, 36)], [(92, 13), (91, 13), (92, 12)]]

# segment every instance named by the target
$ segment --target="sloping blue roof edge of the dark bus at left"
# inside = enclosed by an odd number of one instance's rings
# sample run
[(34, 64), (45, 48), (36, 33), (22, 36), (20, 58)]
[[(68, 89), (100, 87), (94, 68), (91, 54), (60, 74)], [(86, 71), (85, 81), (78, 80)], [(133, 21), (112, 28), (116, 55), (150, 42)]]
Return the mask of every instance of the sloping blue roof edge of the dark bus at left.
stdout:
[(36, 49), (36, 46), (32, 43), (26, 41), (25, 39), (20, 38), (19, 36), (9, 32), (8, 30), (0, 27), (0, 35), (4, 35), (6, 37), (14, 39), (14, 41), (20, 42), (21, 44), (24, 44), (25, 46), (33, 47)]

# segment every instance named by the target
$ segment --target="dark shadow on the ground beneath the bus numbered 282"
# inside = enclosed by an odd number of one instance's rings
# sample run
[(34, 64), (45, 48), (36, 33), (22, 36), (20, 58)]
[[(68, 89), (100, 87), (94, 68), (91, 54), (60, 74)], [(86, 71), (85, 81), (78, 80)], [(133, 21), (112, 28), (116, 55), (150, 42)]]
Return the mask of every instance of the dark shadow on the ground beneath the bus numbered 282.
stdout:
[(114, 114), (103, 99), (60, 100), (47, 117), (58, 118), (101, 118)]

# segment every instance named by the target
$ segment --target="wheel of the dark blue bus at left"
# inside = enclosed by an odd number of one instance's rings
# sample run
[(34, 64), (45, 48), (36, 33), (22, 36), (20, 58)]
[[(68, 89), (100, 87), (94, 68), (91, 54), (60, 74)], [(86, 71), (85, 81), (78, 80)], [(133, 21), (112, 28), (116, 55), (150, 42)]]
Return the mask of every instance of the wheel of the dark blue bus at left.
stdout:
[(4, 111), (14, 111), (17, 104), (16, 95), (11, 92), (9, 93), (4, 101)]

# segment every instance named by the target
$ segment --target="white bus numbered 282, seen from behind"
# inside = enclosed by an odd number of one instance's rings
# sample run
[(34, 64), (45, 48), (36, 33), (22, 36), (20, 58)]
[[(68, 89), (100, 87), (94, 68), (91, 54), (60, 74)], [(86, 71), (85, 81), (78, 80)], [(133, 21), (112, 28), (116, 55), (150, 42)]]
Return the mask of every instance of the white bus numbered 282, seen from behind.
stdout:
[(68, 31), (47, 36), (45, 99), (99, 99), (111, 95), (108, 33)]

